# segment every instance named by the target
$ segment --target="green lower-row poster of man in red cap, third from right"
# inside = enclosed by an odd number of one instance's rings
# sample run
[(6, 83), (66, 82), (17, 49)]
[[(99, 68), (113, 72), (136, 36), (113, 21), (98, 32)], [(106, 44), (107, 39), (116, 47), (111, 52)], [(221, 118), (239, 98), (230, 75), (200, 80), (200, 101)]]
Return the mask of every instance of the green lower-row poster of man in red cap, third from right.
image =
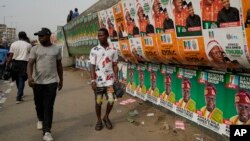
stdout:
[(176, 113), (191, 121), (197, 119), (196, 102), (197, 102), (197, 71), (191, 69), (179, 68), (177, 71), (179, 92), (176, 93)]

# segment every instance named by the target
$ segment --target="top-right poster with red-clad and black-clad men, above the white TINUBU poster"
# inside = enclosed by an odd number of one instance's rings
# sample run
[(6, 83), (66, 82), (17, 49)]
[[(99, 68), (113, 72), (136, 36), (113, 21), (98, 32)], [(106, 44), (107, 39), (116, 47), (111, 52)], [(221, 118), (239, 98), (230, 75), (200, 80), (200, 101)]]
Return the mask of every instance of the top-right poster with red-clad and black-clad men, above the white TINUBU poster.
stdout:
[(201, 0), (203, 29), (240, 26), (241, 0)]

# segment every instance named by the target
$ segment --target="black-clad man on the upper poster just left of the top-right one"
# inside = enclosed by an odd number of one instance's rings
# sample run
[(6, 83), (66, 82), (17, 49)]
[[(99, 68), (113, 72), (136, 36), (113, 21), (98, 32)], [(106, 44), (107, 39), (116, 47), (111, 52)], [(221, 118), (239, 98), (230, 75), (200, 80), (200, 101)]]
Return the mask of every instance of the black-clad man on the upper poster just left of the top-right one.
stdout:
[(186, 19), (186, 26), (187, 28), (189, 27), (197, 27), (197, 26), (201, 26), (201, 18), (200, 16), (194, 14), (194, 8), (192, 3), (188, 3), (188, 13), (189, 16)]

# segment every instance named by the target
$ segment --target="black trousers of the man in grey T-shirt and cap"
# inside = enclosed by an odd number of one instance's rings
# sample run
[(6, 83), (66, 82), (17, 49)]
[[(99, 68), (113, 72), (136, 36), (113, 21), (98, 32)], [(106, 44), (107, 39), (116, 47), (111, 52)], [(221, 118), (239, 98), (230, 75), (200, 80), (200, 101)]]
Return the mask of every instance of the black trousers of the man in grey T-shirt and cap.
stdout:
[(51, 132), (53, 107), (56, 98), (57, 83), (35, 84), (33, 87), (36, 113), (43, 121), (43, 132)]

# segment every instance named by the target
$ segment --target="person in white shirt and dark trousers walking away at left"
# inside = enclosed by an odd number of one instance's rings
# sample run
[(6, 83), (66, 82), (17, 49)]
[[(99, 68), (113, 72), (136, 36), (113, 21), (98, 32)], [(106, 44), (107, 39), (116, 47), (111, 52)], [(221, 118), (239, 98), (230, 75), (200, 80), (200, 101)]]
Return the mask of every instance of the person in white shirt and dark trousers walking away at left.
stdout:
[(23, 101), (23, 90), (25, 87), (25, 81), (27, 80), (27, 63), (29, 52), (32, 47), (29, 43), (29, 38), (24, 31), (18, 33), (18, 38), (18, 41), (11, 44), (9, 57), (6, 62), (7, 68), (10, 67), (11, 64), (11, 77), (13, 81), (16, 81), (16, 104)]

